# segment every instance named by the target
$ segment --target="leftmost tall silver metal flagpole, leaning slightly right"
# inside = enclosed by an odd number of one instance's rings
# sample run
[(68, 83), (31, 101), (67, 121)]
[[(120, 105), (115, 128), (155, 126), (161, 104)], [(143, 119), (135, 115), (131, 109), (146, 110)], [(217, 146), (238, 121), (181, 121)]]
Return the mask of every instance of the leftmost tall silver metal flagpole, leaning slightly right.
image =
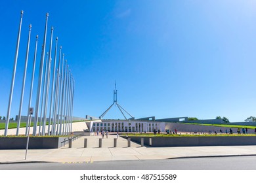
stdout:
[(7, 136), (8, 132), (8, 126), (9, 126), (9, 118), (11, 113), (11, 106), (12, 106), (12, 93), (14, 88), (14, 80), (15, 80), (15, 74), (16, 74), (16, 65), (17, 65), (17, 59), (18, 59), (18, 48), (20, 46), (20, 32), (22, 27), (22, 16), (23, 16), (23, 10), (20, 12), (20, 27), (18, 28), (18, 38), (17, 38), (17, 44), (16, 44), (16, 53), (14, 57), (14, 65), (13, 65), (13, 72), (12, 72), (12, 84), (11, 84), (11, 91), (9, 95), (9, 105), (7, 109), (7, 118), (5, 122), (5, 136)]

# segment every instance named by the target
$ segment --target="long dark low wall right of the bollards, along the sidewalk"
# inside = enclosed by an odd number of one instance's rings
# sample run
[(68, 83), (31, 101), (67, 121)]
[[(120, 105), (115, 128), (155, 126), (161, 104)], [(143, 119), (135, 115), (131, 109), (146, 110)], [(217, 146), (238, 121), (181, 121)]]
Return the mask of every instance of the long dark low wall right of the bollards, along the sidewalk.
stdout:
[[(129, 136), (131, 141), (140, 144), (142, 137)], [(224, 136), (224, 137), (144, 137), (144, 144), (153, 147), (164, 146), (244, 146), (256, 145), (256, 136)]]

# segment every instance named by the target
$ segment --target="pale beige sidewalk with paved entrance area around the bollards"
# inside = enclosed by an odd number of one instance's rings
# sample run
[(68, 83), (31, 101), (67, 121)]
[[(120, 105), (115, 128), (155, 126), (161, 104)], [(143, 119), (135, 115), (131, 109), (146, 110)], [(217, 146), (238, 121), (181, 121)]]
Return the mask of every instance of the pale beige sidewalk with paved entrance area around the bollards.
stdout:
[[(87, 138), (87, 148), (83, 148), (84, 139)], [(169, 159), (193, 158), (211, 156), (256, 156), (256, 146), (195, 146), (195, 147), (141, 147), (140, 144), (131, 142), (127, 147), (127, 140), (119, 137), (117, 147), (114, 148), (116, 135), (108, 135), (102, 139), (102, 148), (98, 148), (98, 139), (101, 136), (85, 136), (58, 149), (47, 150), (0, 150), (0, 163), (25, 163), (33, 161), (44, 162), (89, 162), (89, 161), (116, 161), (140, 159)]]

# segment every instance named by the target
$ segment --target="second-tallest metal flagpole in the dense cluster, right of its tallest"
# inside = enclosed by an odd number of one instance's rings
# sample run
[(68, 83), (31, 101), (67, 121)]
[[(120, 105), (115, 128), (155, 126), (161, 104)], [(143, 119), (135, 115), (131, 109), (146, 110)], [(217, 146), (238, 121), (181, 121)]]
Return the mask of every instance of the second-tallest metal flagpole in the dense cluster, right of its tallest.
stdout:
[(49, 65), (47, 69), (47, 89), (46, 89), (46, 95), (45, 95), (45, 108), (44, 108), (44, 114), (43, 114), (43, 127), (42, 127), (42, 135), (45, 135), (45, 125), (47, 122), (47, 107), (48, 107), (48, 97), (49, 97), (49, 86), (50, 86), (50, 78), (51, 78), (51, 52), (52, 52), (52, 44), (53, 44), (53, 27), (51, 29), (51, 41), (50, 41), (50, 51), (49, 51)]

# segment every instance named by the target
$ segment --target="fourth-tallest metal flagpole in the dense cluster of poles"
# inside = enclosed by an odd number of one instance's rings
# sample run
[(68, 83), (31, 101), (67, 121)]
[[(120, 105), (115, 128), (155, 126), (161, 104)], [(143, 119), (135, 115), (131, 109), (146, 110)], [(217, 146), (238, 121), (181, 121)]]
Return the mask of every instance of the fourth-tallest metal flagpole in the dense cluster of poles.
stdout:
[(57, 107), (58, 107), (58, 88), (59, 88), (59, 80), (60, 80), (60, 60), (61, 60), (61, 49), (62, 49), (62, 46), (60, 46), (60, 53), (59, 53), (59, 58), (58, 58), (58, 69), (57, 69), (57, 75), (56, 75), (56, 89), (55, 89), (55, 99), (54, 99), (54, 118), (53, 118), (53, 135), (56, 135), (56, 113), (57, 113)]

